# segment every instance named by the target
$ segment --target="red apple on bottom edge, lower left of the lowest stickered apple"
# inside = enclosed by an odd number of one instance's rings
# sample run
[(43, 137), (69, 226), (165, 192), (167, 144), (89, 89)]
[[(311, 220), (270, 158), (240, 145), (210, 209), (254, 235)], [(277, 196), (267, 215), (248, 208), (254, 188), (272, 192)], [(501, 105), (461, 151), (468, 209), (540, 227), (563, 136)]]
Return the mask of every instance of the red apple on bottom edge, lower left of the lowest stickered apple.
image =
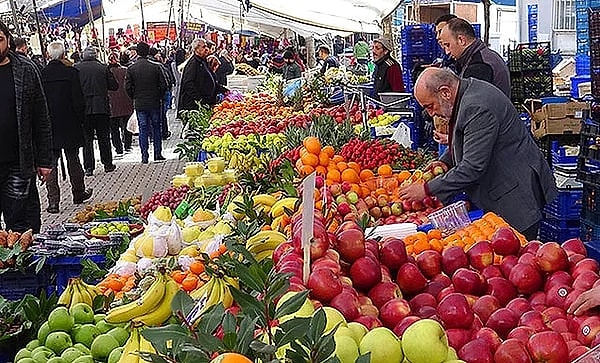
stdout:
[(560, 333), (543, 331), (527, 341), (527, 350), (534, 362), (564, 363), (569, 359), (567, 343)]

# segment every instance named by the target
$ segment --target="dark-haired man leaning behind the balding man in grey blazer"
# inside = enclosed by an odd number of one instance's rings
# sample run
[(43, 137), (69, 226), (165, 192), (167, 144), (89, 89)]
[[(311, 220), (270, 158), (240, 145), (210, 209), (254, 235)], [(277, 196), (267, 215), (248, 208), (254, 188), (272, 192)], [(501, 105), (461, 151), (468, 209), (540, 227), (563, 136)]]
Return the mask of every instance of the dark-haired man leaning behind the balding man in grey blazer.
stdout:
[(502, 57), (475, 37), (473, 26), (461, 18), (450, 19), (440, 30), (439, 42), (456, 60), (460, 77), (474, 77), (498, 87), (510, 97), (510, 75)]

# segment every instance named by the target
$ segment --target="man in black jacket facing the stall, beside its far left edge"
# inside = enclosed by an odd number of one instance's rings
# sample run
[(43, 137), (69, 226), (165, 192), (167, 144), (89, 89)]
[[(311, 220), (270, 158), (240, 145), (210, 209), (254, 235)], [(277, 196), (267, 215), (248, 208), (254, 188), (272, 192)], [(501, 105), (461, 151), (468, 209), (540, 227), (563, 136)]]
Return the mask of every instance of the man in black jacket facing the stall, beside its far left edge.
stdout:
[(205, 39), (192, 42), (194, 55), (188, 60), (181, 76), (179, 110), (197, 110), (200, 102), (213, 106), (217, 103), (217, 95), (227, 91), (217, 82), (217, 75), (206, 63), (209, 49)]

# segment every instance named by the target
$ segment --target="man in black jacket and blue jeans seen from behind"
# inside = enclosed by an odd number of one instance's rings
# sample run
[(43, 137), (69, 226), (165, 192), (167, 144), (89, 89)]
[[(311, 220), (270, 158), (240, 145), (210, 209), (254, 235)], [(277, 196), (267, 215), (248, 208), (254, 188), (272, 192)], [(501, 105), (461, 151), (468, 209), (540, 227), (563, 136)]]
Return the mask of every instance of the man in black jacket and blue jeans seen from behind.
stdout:
[(152, 128), (154, 160), (165, 160), (162, 156), (161, 101), (167, 91), (167, 81), (161, 66), (147, 59), (149, 51), (148, 44), (138, 43), (138, 60), (127, 68), (125, 75), (125, 90), (133, 100), (138, 119), (143, 164), (148, 164), (150, 128)]

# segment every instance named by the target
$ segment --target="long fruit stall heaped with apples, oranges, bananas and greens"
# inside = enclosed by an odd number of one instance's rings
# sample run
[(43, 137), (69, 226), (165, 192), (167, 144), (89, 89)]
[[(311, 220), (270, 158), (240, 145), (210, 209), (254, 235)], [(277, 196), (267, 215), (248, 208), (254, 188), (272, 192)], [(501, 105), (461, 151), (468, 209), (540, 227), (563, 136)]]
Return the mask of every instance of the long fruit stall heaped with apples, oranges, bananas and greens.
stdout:
[[(426, 168), (436, 155), (373, 138), (359, 105), (328, 105), (322, 86), (285, 97), (269, 78), (186, 112), (177, 151), (189, 162), (167, 190), (86, 206), (39, 235), (2, 232), (0, 361), (564, 363), (593, 353), (599, 311), (569, 310), (600, 284), (593, 244), (527, 241), (468, 201), (402, 200), (401, 186), (445, 172)], [(369, 127), (403, 122), (367, 113)]]

